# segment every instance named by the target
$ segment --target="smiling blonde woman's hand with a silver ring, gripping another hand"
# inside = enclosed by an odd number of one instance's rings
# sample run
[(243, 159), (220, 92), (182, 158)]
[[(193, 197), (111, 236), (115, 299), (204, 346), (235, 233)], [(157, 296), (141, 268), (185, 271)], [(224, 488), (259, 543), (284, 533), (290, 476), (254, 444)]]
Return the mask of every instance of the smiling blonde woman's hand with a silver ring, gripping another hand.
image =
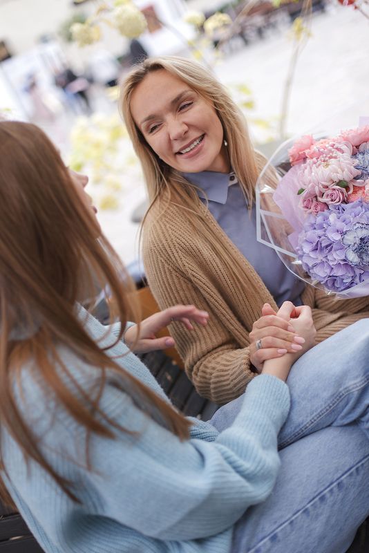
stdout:
[[(287, 310), (282, 309), (285, 304), (289, 304)], [(294, 305), (290, 301), (285, 301), (283, 306), (276, 313), (269, 303), (265, 303), (262, 317), (254, 322), (249, 333), (250, 360), (258, 371), (261, 371), (267, 359), (303, 350), (305, 338), (299, 335), (299, 330), (295, 330), (290, 321), (290, 317), (294, 316)]]

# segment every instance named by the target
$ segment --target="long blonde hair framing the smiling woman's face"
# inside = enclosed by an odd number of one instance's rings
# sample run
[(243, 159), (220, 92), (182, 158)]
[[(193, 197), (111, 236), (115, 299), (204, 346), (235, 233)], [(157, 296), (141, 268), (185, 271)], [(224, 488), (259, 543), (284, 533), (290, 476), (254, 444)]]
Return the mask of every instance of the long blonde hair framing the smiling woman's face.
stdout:
[(175, 56), (148, 58), (135, 66), (124, 79), (120, 96), (120, 110), (142, 165), (151, 205), (165, 196), (169, 200), (173, 198), (176, 203), (193, 212), (198, 214), (202, 212), (196, 187), (185, 180), (178, 171), (160, 160), (133, 120), (130, 105), (133, 91), (146, 75), (160, 70), (178, 77), (214, 106), (223, 126), (229, 162), (251, 209), (255, 197), (256, 179), (265, 160), (256, 154), (252, 147), (246, 120), (225, 86), (220, 84), (214, 75), (196, 62)]

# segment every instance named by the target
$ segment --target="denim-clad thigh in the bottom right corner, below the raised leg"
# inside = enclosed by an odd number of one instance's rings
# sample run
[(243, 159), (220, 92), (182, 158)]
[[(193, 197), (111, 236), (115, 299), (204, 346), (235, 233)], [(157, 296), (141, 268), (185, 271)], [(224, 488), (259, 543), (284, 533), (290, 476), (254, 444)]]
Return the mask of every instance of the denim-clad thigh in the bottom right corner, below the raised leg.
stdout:
[(369, 442), (356, 425), (280, 453), (272, 494), (236, 523), (231, 553), (344, 553), (369, 515)]

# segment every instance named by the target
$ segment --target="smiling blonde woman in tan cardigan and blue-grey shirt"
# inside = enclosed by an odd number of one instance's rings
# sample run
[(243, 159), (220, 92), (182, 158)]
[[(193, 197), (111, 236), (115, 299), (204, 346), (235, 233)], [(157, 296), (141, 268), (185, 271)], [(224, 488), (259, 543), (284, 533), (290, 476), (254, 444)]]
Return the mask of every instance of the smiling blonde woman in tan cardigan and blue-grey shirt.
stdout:
[(180, 57), (146, 59), (126, 78), (121, 109), (151, 202), (142, 227), (151, 290), (160, 308), (191, 302), (211, 315), (191, 333), (171, 325), (201, 395), (228, 402), (266, 359), (301, 348), (275, 317), (283, 301), (312, 308), (317, 341), (369, 315), (369, 299), (305, 288), (257, 243), (254, 190), (265, 160), (209, 71)]

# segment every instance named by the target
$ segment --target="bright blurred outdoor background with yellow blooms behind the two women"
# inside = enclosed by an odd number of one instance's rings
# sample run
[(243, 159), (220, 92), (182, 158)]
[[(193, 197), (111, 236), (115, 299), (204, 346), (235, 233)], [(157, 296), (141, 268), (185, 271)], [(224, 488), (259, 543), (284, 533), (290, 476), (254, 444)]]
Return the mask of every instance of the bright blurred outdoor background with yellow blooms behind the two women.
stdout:
[(117, 86), (142, 57), (214, 71), (266, 156), (369, 115), (368, 0), (0, 0), (0, 113), (41, 126), (90, 177), (106, 236), (135, 263), (146, 206)]

